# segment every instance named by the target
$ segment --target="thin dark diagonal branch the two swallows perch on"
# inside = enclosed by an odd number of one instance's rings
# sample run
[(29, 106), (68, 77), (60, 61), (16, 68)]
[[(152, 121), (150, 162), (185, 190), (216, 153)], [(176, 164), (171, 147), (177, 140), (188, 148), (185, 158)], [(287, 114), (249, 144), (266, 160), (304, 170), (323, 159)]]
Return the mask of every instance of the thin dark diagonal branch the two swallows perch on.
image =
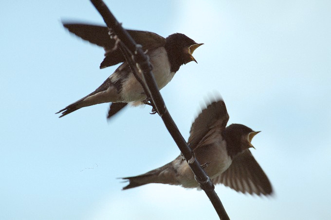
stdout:
[(173, 119), (171, 118), (169, 112), (165, 107), (165, 102), (163, 101), (163, 98), (159, 92), (159, 88), (154, 79), (153, 73), (151, 71), (152, 66), (149, 63), (149, 57), (144, 53), (141, 45), (137, 45), (132, 39), (132, 37), (128, 34), (128, 32), (122, 28), (121, 24), (111, 14), (110, 10), (102, 0), (91, 0), (91, 2), (103, 17), (105, 23), (107, 24), (107, 27), (113, 30), (113, 32), (125, 44), (126, 48), (128, 48), (130, 53), (134, 54), (134, 61), (136, 62), (139, 71), (143, 73), (143, 77), (147, 85), (149, 97), (151, 98), (152, 102), (154, 102), (156, 111), (163, 119), (167, 130), (169, 131), (170, 135), (176, 142), (185, 160), (188, 162), (188, 165), (192, 169), (196, 177), (196, 180), (198, 181), (200, 187), (205, 191), (206, 195), (210, 199), (220, 219), (229, 220), (229, 217), (226, 214), (226, 211), (221, 203), (221, 200), (217, 196), (214, 190), (214, 185), (212, 184), (210, 178), (202, 169), (200, 163), (193, 156), (193, 152), (191, 148), (187, 145), (186, 141), (179, 132), (175, 122), (173, 121)]

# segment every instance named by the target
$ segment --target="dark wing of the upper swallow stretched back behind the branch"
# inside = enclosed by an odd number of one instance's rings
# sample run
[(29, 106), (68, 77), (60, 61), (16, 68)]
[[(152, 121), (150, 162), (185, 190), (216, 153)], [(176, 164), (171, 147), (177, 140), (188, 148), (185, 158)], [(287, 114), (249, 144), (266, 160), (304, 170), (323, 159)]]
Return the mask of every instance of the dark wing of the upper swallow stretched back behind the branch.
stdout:
[[(105, 59), (101, 63), (100, 68), (106, 68), (116, 65), (118, 63), (125, 62), (125, 58), (120, 49), (117, 48), (116, 50), (113, 50), (115, 46), (115, 40), (110, 39), (107, 27), (67, 22), (64, 22), (63, 26), (67, 28), (68, 31), (70, 31), (71, 33), (105, 49)], [(162, 47), (165, 45), (165, 38), (158, 34), (147, 31), (127, 31), (136, 41), (136, 43), (143, 46), (143, 50), (145, 51), (151, 51), (155, 48)]]

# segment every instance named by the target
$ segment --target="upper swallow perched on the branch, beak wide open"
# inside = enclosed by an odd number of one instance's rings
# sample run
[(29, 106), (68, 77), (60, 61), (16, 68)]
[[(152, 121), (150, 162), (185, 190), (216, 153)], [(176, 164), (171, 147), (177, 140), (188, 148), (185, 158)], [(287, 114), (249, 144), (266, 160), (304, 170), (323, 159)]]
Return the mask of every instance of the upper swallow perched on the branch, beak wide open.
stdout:
[[(104, 48), (105, 58), (100, 64), (100, 68), (122, 64), (95, 91), (56, 112), (55, 114), (61, 113), (59, 118), (82, 107), (112, 102), (107, 117), (110, 118), (128, 103), (133, 106), (146, 103), (144, 100), (147, 96), (142, 85), (134, 77), (121, 49), (115, 46), (115, 39), (110, 38), (107, 27), (71, 22), (63, 22), (63, 26), (82, 39)], [(202, 43), (196, 43), (185, 34), (175, 33), (165, 38), (147, 31), (127, 31), (135, 42), (142, 45), (143, 50), (147, 51), (159, 89), (172, 80), (182, 65), (191, 61), (198, 63), (192, 53)], [(138, 75), (142, 79), (141, 73), (138, 72)]]

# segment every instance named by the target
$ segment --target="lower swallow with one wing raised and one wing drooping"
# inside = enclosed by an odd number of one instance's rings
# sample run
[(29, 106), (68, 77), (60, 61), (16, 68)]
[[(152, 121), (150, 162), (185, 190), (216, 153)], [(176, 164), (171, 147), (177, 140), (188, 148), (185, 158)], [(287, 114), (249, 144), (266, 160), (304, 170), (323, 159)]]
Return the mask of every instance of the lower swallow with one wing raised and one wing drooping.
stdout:
[[(242, 124), (226, 127), (228, 120), (229, 115), (222, 99), (210, 101), (201, 111), (192, 123), (187, 142), (195, 158), (202, 164), (213, 184), (223, 184), (237, 192), (259, 196), (272, 194), (267, 175), (249, 150), (254, 148), (251, 141), (259, 132)], [(182, 155), (163, 167), (121, 179), (129, 182), (123, 189), (150, 183), (200, 189)]]

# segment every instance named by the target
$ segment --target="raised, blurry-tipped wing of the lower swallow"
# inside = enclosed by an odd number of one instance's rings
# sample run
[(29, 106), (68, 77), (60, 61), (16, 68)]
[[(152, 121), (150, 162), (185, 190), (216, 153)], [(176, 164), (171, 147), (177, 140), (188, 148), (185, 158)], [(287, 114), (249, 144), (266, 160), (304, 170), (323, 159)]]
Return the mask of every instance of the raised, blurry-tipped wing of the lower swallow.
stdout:
[(210, 103), (207, 108), (203, 109), (199, 116), (194, 120), (190, 130), (188, 144), (194, 150), (213, 128), (214, 131), (223, 131), (229, 115), (223, 100)]

